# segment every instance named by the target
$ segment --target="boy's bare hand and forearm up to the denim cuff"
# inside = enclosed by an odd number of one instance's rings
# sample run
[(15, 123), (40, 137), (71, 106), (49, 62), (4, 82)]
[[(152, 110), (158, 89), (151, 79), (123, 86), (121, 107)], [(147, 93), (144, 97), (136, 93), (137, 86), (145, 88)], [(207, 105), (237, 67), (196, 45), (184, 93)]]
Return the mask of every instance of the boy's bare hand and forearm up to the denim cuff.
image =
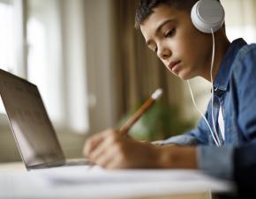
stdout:
[(197, 168), (195, 147), (155, 146), (111, 129), (88, 138), (84, 154), (104, 168)]

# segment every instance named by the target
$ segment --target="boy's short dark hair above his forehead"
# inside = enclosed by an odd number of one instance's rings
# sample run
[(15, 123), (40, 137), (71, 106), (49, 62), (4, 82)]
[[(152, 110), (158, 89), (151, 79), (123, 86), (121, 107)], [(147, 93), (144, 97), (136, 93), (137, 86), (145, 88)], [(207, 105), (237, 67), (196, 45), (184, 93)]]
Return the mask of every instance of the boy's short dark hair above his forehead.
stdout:
[[(138, 29), (143, 21), (154, 11), (159, 4), (168, 4), (169, 6), (182, 11), (190, 12), (193, 4), (199, 0), (139, 0), (139, 6), (135, 15), (135, 27)], [(217, 0), (219, 2), (219, 0)]]

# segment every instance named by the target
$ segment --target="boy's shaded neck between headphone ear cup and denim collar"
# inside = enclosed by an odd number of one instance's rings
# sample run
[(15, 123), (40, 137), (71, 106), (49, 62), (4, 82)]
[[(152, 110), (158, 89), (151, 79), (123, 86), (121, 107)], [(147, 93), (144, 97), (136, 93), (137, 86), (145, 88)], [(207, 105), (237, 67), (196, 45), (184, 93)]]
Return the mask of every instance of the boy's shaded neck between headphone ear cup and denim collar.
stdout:
[[(220, 33), (215, 33), (215, 61), (214, 61), (214, 68), (213, 68), (214, 81), (215, 81), (217, 72), (220, 68), (220, 65), (222, 63), (222, 60), (224, 58), (224, 55), (226, 55), (226, 52), (229, 47), (230, 47), (230, 41), (227, 38), (226, 33), (224, 33), (224, 31), (220, 31)], [(210, 68), (211, 68), (211, 60), (209, 62), (209, 66), (207, 67), (207, 71), (205, 72), (205, 74), (202, 75), (202, 77), (207, 79), (207, 81), (209, 82), (211, 82)]]

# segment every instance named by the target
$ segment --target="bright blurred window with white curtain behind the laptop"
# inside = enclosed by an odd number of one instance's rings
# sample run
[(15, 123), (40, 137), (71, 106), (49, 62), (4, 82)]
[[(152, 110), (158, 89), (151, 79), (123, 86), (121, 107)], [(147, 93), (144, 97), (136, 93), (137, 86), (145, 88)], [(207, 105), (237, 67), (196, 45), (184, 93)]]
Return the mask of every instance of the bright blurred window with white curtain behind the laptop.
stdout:
[[(88, 117), (81, 4), (83, 0), (0, 0), (0, 68), (38, 86), (56, 129), (85, 133)], [(0, 123), (7, 125), (4, 112), (1, 100)]]

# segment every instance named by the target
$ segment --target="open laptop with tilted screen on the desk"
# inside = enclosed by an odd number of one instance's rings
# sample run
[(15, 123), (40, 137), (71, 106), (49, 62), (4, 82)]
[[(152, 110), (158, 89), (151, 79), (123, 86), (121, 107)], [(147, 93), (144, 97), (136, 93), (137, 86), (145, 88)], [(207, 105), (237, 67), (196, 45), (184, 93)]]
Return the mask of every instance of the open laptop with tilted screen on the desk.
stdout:
[(66, 161), (36, 85), (0, 70), (0, 95), (26, 169), (91, 165)]

